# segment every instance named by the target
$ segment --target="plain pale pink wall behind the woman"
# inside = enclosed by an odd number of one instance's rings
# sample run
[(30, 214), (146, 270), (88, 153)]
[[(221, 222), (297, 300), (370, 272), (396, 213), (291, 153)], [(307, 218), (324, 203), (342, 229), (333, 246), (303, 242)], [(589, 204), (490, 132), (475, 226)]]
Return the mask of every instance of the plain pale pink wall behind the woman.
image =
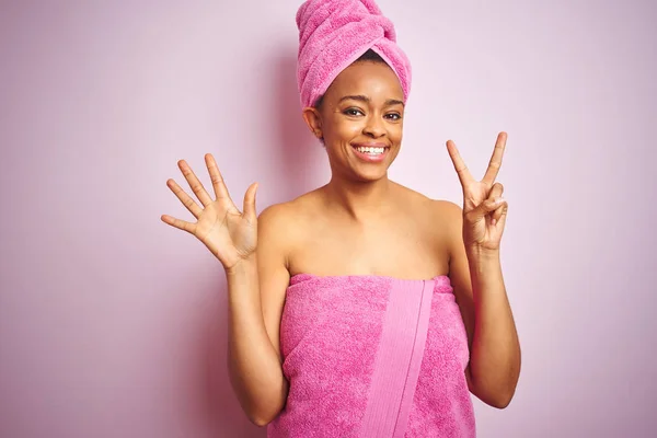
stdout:
[[(92, 5), (93, 3), (93, 5)], [(165, 186), (215, 153), (258, 207), (326, 182), (300, 1), (0, 3), (0, 436), (263, 437), (230, 390), (223, 272)], [(485, 4), (485, 5), (484, 5)], [(461, 201), (509, 132), (503, 263), (523, 351), (488, 437), (649, 437), (657, 416), (649, 1), (380, 0), (414, 67), (391, 176)]]

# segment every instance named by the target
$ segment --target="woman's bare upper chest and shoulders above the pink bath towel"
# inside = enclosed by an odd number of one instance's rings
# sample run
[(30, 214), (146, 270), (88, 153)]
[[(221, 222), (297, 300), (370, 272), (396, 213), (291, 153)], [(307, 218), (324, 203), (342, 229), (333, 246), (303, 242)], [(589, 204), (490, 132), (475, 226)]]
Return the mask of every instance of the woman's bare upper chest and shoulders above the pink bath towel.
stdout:
[(440, 207), (402, 185), (388, 185), (388, 205), (359, 211), (358, 218), (332, 207), (327, 186), (281, 206), (278, 214), (288, 218), (291, 237), (290, 275), (429, 279), (447, 274), (449, 235), (446, 223), (436, 222)]

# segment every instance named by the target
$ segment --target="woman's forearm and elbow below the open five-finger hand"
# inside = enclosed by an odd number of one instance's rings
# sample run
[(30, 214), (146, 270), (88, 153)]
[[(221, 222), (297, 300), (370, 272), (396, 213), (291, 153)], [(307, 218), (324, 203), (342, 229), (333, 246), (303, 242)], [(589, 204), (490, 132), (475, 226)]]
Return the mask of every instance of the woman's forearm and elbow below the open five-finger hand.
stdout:
[(285, 405), (287, 381), (263, 319), (256, 262), (227, 272), (228, 367), (242, 408), (264, 425)]

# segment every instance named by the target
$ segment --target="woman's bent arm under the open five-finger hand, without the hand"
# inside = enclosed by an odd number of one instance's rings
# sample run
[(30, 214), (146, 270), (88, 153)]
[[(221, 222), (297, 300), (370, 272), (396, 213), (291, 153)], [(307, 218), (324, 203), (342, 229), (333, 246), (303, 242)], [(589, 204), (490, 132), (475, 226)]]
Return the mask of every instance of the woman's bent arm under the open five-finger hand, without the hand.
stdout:
[(229, 293), (229, 371), (242, 408), (265, 426), (285, 406), (288, 382), (283, 374), (279, 327), (289, 284), (283, 237), (273, 206), (257, 221), (254, 257), (227, 270)]

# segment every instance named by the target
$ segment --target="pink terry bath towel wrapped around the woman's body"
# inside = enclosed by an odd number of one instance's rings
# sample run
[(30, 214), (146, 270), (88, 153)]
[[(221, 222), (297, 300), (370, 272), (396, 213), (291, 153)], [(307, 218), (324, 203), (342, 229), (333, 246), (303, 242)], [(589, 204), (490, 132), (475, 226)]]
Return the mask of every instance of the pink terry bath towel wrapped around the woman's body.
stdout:
[(290, 387), (269, 438), (475, 436), (447, 276), (293, 276), (280, 343)]

